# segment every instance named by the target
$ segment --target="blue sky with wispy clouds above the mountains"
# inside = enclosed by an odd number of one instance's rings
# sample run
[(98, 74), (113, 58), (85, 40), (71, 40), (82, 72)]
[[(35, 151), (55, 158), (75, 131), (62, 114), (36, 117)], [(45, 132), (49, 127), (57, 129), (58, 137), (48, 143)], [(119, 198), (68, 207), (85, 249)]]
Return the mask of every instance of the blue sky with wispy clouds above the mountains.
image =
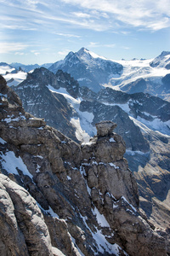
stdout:
[(0, 0), (0, 62), (42, 64), (85, 47), (113, 60), (170, 50), (170, 0)]

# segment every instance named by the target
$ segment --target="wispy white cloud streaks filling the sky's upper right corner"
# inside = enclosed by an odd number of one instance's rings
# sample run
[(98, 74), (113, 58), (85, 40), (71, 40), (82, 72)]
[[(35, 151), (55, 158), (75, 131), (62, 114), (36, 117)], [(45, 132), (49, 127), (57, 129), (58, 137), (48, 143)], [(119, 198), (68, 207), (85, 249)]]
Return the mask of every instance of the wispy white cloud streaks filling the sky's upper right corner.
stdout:
[(169, 0), (63, 0), (82, 9), (96, 10), (109, 15), (110, 22), (116, 20), (129, 26), (142, 26), (150, 30), (160, 30), (170, 26)]

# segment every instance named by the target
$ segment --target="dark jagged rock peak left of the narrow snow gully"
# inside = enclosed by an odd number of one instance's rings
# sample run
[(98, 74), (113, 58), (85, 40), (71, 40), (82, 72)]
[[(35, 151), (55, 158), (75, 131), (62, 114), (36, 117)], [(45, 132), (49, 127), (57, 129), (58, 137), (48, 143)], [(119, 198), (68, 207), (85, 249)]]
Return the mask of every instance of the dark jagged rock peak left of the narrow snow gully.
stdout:
[(70, 123), (74, 111), (64, 96), (48, 90), (49, 84), (55, 90), (59, 89), (61, 82), (54, 73), (41, 67), (33, 73), (28, 73), (27, 79), (15, 86), (14, 90), (22, 99), (27, 112), (37, 118), (44, 118), (48, 125), (65, 132), (66, 136), (77, 141), (75, 128)]

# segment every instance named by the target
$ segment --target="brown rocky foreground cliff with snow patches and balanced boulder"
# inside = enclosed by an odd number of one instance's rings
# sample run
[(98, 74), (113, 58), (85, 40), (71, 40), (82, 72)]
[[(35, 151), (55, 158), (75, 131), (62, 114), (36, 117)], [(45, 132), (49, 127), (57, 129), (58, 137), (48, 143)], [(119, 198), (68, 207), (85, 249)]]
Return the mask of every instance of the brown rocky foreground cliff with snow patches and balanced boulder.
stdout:
[(114, 123), (81, 146), (26, 113), (0, 77), (0, 255), (167, 255), (139, 212)]

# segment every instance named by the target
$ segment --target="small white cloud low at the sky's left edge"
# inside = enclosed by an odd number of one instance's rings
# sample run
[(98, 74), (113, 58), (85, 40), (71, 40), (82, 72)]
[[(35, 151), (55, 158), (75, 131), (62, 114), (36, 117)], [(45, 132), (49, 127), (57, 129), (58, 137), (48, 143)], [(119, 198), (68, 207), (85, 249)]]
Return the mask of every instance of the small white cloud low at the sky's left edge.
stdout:
[(1, 42), (0, 43), (0, 54), (7, 54), (11, 52), (20, 51), (23, 49), (26, 49), (28, 47), (27, 44), (22, 43), (6, 43)]

